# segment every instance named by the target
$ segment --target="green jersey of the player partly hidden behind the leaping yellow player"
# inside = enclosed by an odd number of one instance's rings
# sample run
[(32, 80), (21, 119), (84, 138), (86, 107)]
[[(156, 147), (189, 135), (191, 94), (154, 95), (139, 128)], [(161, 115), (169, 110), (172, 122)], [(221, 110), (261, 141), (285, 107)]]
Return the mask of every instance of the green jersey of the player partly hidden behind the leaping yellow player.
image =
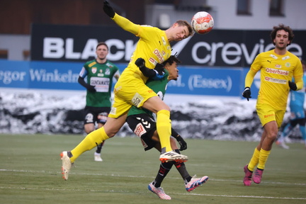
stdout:
[[(151, 88), (162, 100), (164, 100), (164, 94), (166, 94), (166, 85), (168, 83), (169, 77), (169, 72), (166, 69), (164, 69), (164, 72), (164, 78), (159, 80), (148, 79), (146, 83), (146, 85)], [(137, 108), (136, 106), (132, 106), (132, 108), (130, 108), (130, 111), (128, 111), (128, 116), (142, 113), (152, 115), (152, 112), (145, 108)]]

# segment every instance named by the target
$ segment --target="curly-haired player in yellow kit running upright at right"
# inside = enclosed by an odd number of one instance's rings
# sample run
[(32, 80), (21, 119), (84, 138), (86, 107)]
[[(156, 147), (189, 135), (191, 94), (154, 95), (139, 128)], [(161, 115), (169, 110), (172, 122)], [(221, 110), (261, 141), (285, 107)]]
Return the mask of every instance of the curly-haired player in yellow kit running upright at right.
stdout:
[[(283, 24), (274, 26), (271, 40), (275, 49), (257, 55), (246, 74), (242, 96), (249, 101), (251, 98), (250, 87), (254, 76), (256, 72), (261, 71), (261, 86), (256, 111), (263, 126), (263, 133), (249, 164), (244, 166), (244, 186), (251, 186), (251, 179), (254, 183), (261, 183), (263, 170), (273, 142), (276, 140), (281, 123), (283, 123), (289, 90), (297, 91), (303, 87), (300, 59), (287, 50), (287, 46), (291, 44), (293, 38), (293, 30), (289, 26)], [(293, 77), (295, 82), (291, 81)]]

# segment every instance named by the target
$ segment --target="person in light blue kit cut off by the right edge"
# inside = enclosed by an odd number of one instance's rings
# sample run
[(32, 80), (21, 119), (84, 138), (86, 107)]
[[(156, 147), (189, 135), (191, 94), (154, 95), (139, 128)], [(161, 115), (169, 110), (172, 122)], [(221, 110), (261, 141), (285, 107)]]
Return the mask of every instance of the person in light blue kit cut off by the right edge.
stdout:
[[(304, 60), (302, 62), (302, 68), (304, 71), (303, 81), (306, 81), (306, 62)], [(299, 91), (290, 91), (290, 121), (283, 128), (283, 132), (281, 132), (280, 137), (276, 141), (276, 145), (283, 147), (284, 149), (289, 149), (288, 145), (285, 145), (285, 137), (287, 137), (293, 128), (296, 125), (299, 125), (300, 132), (302, 133), (302, 140), (306, 147), (306, 118), (304, 111), (304, 101), (305, 101), (305, 83), (303, 89)]]

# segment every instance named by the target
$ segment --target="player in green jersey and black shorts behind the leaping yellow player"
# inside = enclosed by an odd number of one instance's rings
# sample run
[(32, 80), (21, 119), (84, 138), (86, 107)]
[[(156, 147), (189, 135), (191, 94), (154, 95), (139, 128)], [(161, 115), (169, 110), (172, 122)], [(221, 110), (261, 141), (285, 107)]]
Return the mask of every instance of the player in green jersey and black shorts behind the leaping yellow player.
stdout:
[[(171, 55), (169, 59), (163, 63), (166, 72), (164, 74), (164, 78), (160, 80), (148, 79), (147, 81), (147, 86), (151, 88), (155, 93), (157, 93), (157, 95), (162, 99), (164, 98), (164, 94), (166, 92), (166, 84), (168, 81), (177, 80), (179, 77), (179, 70), (177, 69), (178, 63), (181, 63), (179, 59), (174, 55)], [(151, 111), (133, 106), (128, 112), (127, 122), (130, 126), (130, 129), (135, 132), (138, 137), (140, 137), (145, 151), (152, 149), (153, 147), (156, 148), (159, 152), (162, 151), (156, 123)], [(180, 154), (180, 151), (187, 149), (187, 143), (173, 128), (171, 130), (171, 135), (173, 136), (170, 138), (171, 148), (174, 149), (175, 152)], [(180, 149), (176, 145), (176, 140), (181, 146)], [(191, 177), (186, 170), (184, 162), (171, 161), (162, 163), (159, 166), (159, 171), (156, 178), (154, 181), (152, 181), (152, 183), (149, 183), (148, 188), (149, 191), (156, 193), (157, 196), (163, 200), (171, 200), (171, 197), (166, 195), (166, 193), (164, 193), (164, 189), (160, 186), (173, 165), (176, 166), (176, 169), (181, 174), (183, 181), (185, 182), (186, 191), (188, 192), (192, 191), (208, 180), (208, 176), (203, 176), (202, 178), (198, 179)]]

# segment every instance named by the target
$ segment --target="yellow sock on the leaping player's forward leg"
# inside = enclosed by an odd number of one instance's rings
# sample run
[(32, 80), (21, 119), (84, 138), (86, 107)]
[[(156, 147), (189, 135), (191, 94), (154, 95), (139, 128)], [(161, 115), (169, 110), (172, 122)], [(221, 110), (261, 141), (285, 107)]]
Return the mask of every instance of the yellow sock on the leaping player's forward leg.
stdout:
[(166, 152), (172, 151), (170, 144), (171, 120), (170, 111), (162, 110), (157, 112), (157, 133), (161, 142), (162, 150)]

